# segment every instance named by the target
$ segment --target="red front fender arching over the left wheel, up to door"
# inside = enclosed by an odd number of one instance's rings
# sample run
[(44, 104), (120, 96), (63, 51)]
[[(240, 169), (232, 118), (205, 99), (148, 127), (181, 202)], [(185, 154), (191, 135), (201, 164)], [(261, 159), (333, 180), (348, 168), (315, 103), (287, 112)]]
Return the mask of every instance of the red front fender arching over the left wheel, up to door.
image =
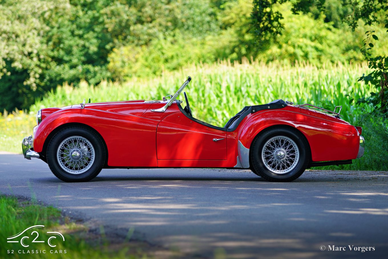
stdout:
[(109, 154), (109, 166), (157, 166), (158, 121), (109, 111), (70, 108), (50, 114), (36, 129), (34, 150), (42, 152), (50, 133), (67, 123), (88, 125), (102, 136)]

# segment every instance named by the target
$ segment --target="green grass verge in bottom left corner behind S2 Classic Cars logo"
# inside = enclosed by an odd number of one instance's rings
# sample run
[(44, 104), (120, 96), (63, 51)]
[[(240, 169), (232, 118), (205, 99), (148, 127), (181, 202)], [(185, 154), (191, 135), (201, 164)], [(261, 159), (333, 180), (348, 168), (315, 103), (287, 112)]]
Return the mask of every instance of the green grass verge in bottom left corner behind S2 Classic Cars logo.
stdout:
[[(87, 234), (88, 228), (82, 224), (69, 221), (61, 216), (61, 211), (54, 207), (45, 207), (35, 202), (19, 202), (16, 198), (0, 195), (0, 258), (146, 258), (145, 253), (137, 251), (130, 242), (115, 245), (114, 249), (109, 247), (109, 243), (104, 240), (104, 236), (90, 236)], [(68, 221), (68, 222), (66, 222)], [(29, 247), (22, 247), (20, 243), (7, 243), (7, 237), (13, 236), (24, 229), (34, 226), (44, 225), (45, 228), (37, 228), (37, 240), (46, 240), (45, 243), (31, 243), (35, 234), (33, 230), (25, 232), (29, 236), (23, 243)], [(51, 236), (47, 231), (58, 231), (64, 235), (65, 241), (59, 237), (52, 241), (57, 247), (50, 247), (47, 239)], [(20, 239), (19, 239), (20, 240)], [(131, 250), (132, 249), (132, 250)], [(11, 254), (12, 250), (14, 251)], [(23, 254), (19, 250), (46, 250), (46, 253)], [(51, 254), (50, 250), (62, 250), (62, 254)], [(63, 251), (66, 250), (66, 254)], [(10, 253), (8, 253), (10, 251)], [(26, 252), (27, 253), (27, 252)]]

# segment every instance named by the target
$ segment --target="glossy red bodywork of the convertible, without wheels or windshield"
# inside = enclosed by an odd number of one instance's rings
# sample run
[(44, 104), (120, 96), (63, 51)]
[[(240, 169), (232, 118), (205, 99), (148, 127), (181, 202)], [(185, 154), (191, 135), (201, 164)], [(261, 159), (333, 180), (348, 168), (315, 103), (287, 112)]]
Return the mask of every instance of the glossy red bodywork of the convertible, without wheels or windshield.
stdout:
[(249, 168), (249, 150), (255, 137), (279, 125), (303, 134), (310, 148), (309, 166), (351, 163), (364, 150), (360, 146), (361, 128), (305, 106), (282, 101), (285, 105), (281, 108), (250, 108), (237, 125), (221, 128), (189, 116), (180, 101), (173, 101), (164, 112), (153, 111), (167, 102), (117, 101), (42, 109), (31, 150), (44, 160), (51, 137), (71, 125), (88, 127), (103, 139), (105, 168)]

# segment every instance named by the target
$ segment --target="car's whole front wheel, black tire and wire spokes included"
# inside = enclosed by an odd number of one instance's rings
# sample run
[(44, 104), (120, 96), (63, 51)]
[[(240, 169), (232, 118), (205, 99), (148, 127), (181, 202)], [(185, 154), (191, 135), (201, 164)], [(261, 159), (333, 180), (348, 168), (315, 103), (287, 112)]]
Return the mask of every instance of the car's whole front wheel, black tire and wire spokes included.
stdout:
[(85, 127), (60, 130), (47, 147), (50, 170), (65, 182), (90, 181), (100, 173), (105, 156), (100, 136)]

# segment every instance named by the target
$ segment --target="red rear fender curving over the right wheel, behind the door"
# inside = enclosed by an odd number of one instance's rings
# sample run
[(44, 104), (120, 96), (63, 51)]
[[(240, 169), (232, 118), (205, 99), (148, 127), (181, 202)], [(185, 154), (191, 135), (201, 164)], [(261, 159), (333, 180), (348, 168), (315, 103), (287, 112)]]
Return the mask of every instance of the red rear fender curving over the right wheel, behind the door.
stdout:
[(244, 153), (251, 148), (253, 139), (262, 130), (276, 125), (287, 125), (299, 130), (310, 145), (314, 162), (357, 158), (359, 134), (354, 126), (340, 120), (325, 120), (294, 111), (268, 110), (251, 116), (241, 127), (238, 139), (239, 156), (244, 160), (241, 161), (242, 165), (247, 165)]

